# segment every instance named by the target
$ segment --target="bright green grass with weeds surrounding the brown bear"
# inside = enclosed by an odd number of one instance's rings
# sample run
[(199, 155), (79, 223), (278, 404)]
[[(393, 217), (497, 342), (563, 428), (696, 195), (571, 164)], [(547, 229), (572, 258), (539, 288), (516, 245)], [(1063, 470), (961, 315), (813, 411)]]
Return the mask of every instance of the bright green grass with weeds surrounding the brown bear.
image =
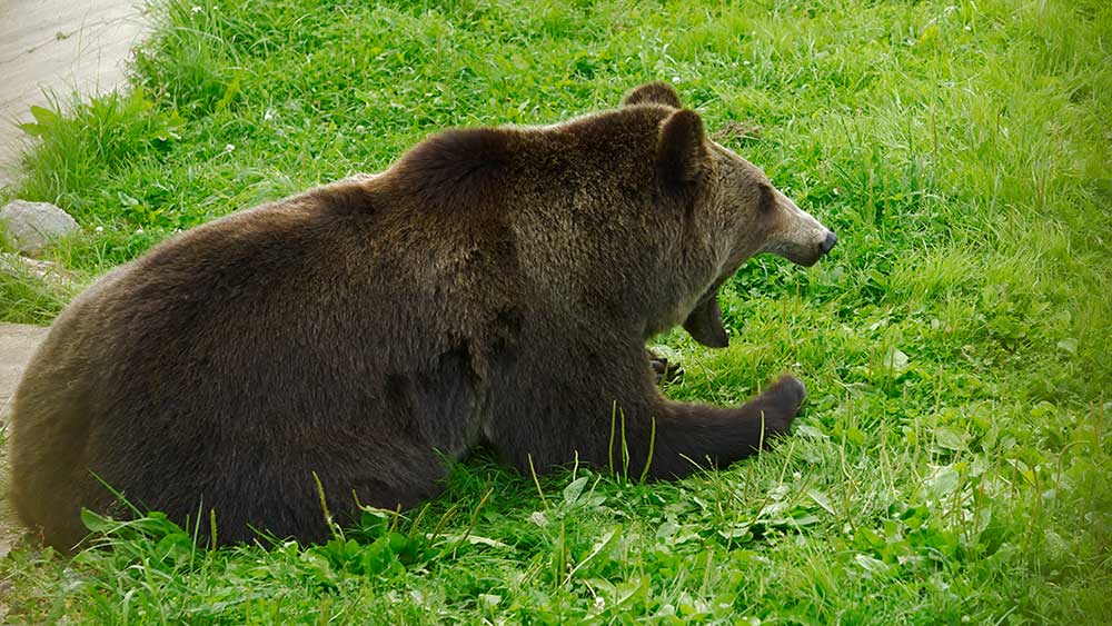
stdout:
[[(1112, 9), (1098, 0), (160, 3), (131, 90), (38, 111), (18, 190), (91, 278), (177, 229), (386, 167), (449, 126), (548, 123), (675, 82), (841, 242), (743, 268), (728, 349), (662, 338), (677, 398), (781, 370), (794, 437), (678, 484), (484, 455), (327, 546), (0, 565), (29, 623), (1048, 624), (1112, 619)], [(0, 280), (0, 316), (64, 297)], [(353, 445), (358, 445), (353, 443)]]

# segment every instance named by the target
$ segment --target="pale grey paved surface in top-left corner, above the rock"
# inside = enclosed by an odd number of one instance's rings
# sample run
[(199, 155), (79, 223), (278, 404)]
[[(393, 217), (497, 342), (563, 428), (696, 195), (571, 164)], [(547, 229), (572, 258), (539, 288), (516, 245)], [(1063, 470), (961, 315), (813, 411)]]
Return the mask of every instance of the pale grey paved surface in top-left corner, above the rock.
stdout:
[(43, 90), (110, 91), (142, 36), (140, 0), (0, 0), (0, 186), (14, 178), (31, 105)]

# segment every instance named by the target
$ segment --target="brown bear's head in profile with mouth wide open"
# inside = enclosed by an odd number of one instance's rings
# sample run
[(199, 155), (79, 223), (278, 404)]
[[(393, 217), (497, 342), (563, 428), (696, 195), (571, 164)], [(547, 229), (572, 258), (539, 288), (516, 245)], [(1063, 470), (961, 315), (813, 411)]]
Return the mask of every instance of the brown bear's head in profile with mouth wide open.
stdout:
[(687, 312), (684, 328), (705, 346), (728, 344), (718, 309), (718, 287), (748, 258), (780, 255), (811, 266), (837, 237), (772, 186), (753, 163), (711, 140), (698, 113), (684, 109), (676, 90), (651, 82), (629, 92), (623, 105), (672, 109), (657, 137), (656, 177), (663, 193), (691, 207), (699, 232), (709, 233), (717, 262), (713, 282)]

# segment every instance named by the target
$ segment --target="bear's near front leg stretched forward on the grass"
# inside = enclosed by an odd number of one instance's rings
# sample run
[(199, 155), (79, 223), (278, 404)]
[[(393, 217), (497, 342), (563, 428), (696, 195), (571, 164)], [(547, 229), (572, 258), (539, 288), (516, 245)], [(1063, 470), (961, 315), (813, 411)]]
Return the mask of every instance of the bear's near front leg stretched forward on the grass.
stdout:
[[(604, 358), (619, 350), (624, 358)], [(741, 407), (676, 403), (661, 396), (643, 347), (564, 354), (572, 358), (518, 361), (494, 391), (487, 438), (524, 471), (576, 459), (625, 465), (631, 476), (647, 464), (658, 478), (691, 474), (696, 464), (725, 467), (787, 433), (806, 396), (803, 382), (785, 376)]]

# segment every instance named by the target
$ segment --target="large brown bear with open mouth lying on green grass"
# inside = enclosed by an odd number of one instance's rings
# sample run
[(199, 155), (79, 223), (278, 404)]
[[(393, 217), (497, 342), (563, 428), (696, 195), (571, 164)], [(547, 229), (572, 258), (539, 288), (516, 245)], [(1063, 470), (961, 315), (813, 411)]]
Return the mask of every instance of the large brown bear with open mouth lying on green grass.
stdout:
[(834, 242), (665, 83), (555, 126), (441, 132), (75, 299), (14, 396), (16, 510), (60, 549), (112, 490), (178, 521), (212, 509), (221, 543), (317, 541), (314, 474), (341, 516), (353, 494), (411, 507), (479, 444), (517, 468), (605, 467), (615, 411), (631, 474), (724, 466), (787, 430), (803, 385), (672, 401), (645, 341), (683, 324), (725, 346), (716, 291), (746, 259), (811, 265)]

